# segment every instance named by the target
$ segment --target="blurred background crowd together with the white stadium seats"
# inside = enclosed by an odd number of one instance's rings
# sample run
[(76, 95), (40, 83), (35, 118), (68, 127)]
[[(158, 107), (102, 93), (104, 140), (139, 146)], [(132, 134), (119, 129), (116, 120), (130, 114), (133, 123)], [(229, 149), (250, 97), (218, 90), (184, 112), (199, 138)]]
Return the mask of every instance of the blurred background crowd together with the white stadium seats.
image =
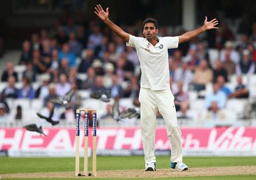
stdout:
[[(111, 19), (111, 7), (109, 11)], [(208, 19), (217, 18), (219, 29), (179, 44), (177, 49), (169, 49), (170, 88), (173, 94), (182, 90), (175, 102), (178, 118), (253, 118), (256, 97), (253, 17), (246, 12), (234, 19), (211, 14)], [(144, 37), (143, 20), (116, 23), (129, 34)], [(162, 19), (158, 21), (160, 37), (187, 31), (172, 26), (172, 22), (164, 25)], [(0, 37), (1, 54), (6, 40)], [(52, 27), (31, 32), (20, 44), (20, 50), (19, 61), (6, 63), (1, 74), (0, 122), (25, 121), (30, 110), (47, 115), (54, 107), (48, 99), (63, 96), (73, 87), (77, 90), (72, 109), (56, 111), (56, 121), (75, 122), (75, 109), (84, 107), (84, 103), (93, 106), (89, 95), (95, 90), (110, 90), (112, 98), (129, 99), (129, 106), (140, 106), (141, 72), (136, 50), (126, 47), (121, 38), (97, 19), (86, 19), (83, 14), (74, 16), (63, 10)], [(111, 117), (112, 102), (97, 106), (102, 108), (99, 119)], [(123, 103), (122, 109), (126, 106)]]

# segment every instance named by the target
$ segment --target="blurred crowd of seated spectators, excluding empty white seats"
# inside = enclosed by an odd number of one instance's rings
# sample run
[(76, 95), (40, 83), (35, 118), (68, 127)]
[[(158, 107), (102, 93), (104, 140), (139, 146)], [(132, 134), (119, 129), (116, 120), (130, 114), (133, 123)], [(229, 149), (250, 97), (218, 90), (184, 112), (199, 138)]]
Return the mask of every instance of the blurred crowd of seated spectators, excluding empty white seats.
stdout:
[[(178, 117), (193, 118), (188, 91), (196, 91), (200, 96), (199, 92), (205, 90), (207, 84), (213, 84), (212, 92), (203, 96), (204, 108), (209, 110), (208, 118), (222, 118), (221, 110), (227, 99), (249, 97), (248, 87), (241, 76), (256, 73), (256, 22), (251, 23), (249, 30), (239, 26), (237, 32), (232, 31), (225, 21), (220, 22), (219, 29), (210, 31), (204, 39), (194, 38), (180, 44), (178, 49), (169, 50), (172, 93), (182, 90), (178, 96), (180, 101), (175, 102)], [(240, 24), (243, 23), (244, 19)], [(142, 22), (137, 24), (142, 25)], [(141, 25), (121, 27), (129, 34), (143, 37)], [(178, 34), (172, 34), (166, 29), (160, 27), (158, 35), (176, 36), (184, 32), (181, 29)], [(219, 52), (214, 61), (210, 58), (209, 48)], [(136, 50), (126, 47), (121, 38), (97, 21), (56, 20), (55, 27), (31, 34), (31, 39), (22, 43), (19, 65), (26, 66), (20, 89), (15, 87), (19, 79), (12, 62), (2, 73), (1, 81), (7, 85), (0, 98), (1, 119), (9, 112), (6, 98), (43, 99), (44, 107), (48, 108), (44, 114), (47, 114), (53, 108), (47, 99), (63, 96), (74, 87), (78, 90), (110, 90), (113, 98), (132, 98), (134, 105), (139, 106), (140, 64)], [(86, 74), (86, 78), (79, 78), (78, 74)], [(234, 90), (225, 86), (232, 75), (237, 75)], [(38, 76), (42, 77), (42, 84), (34, 89), (31, 84), (39, 81)], [(184, 90), (183, 87), (189, 88)], [(75, 97), (72, 107), (78, 106), (79, 97)], [(74, 115), (74, 112), (66, 111), (59, 116), (75, 119)]]

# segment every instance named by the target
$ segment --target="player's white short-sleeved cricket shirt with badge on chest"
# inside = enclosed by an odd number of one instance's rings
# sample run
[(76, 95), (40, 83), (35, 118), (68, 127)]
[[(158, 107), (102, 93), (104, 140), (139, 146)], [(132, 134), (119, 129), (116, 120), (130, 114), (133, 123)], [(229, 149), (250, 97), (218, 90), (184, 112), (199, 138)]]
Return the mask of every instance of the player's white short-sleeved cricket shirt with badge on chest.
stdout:
[(179, 37), (157, 37), (154, 47), (146, 38), (130, 34), (127, 46), (134, 47), (140, 60), (140, 87), (151, 90), (170, 88), (168, 49), (177, 48)]

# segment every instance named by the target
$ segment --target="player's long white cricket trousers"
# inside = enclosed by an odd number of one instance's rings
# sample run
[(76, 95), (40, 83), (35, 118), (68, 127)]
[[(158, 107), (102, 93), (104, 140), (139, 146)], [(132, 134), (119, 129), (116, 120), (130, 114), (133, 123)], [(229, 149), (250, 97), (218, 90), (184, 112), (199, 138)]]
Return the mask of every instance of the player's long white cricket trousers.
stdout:
[(145, 162), (156, 162), (155, 134), (156, 113), (160, 112), (165, 120), (167, 136), (171, 142), (171, 161), (182, 162), (181, 130), (178, 127), (174, 96), (170, 89), (150, 90), (140, 88), (140, 125)]

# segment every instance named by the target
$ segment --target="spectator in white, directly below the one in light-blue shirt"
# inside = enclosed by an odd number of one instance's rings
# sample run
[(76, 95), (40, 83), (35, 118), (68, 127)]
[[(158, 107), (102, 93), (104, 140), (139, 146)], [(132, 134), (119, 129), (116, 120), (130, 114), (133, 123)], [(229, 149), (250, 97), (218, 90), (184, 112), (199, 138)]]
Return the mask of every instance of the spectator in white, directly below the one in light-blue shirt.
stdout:
[(218, 103), (213, 101), (209, 110), (206, 113), (206, 119), (225, 119), (225, 113), (223, 109), (220, 109)]

